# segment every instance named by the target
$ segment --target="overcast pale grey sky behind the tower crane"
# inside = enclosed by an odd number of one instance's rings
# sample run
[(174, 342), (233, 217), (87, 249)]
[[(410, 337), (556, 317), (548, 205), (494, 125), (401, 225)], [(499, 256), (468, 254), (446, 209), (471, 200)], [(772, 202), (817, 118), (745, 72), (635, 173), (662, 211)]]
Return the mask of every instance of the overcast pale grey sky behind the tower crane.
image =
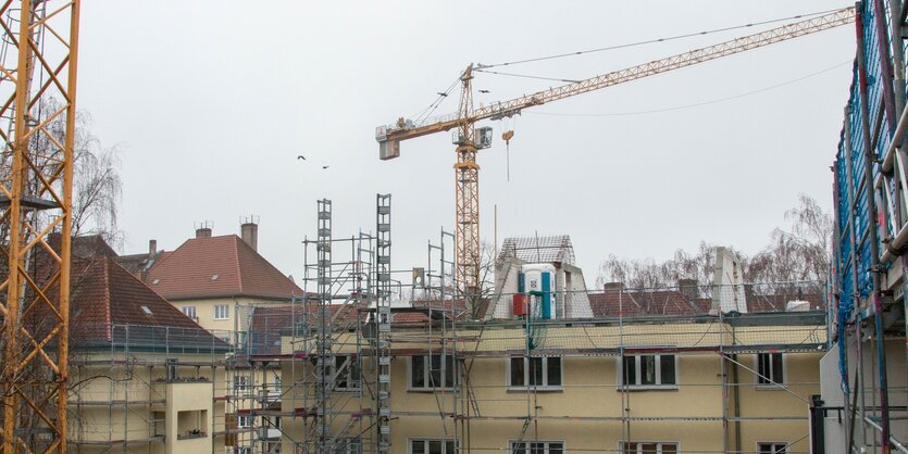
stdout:
[[(374, 128), (422, 111), (467, 64), (847, 4), (92, 0), (83, 3), (78, 106), (122, 149), (122, 252), (151, 238), (173, 250), (207, 219), (215, 235), (238, 234), (252, 214), (260, 252), (299, 277), (318, 199), (333, 200), (341, 237), (371, 230), (375, 193), (390, 192), (394, 267), (409, 268), (452, 228), (453, 147), (439, 134), (382, 162)], [(585, 78), (754, 31), (508, 71)], [(495, 142), (478, 157), (483, 237), (492, 241), (495, 204), (499, 243), (570, 235), (587, 285), (610, 253), (663, 260), (700, 240), (757, 251), (799, 193), (832, 206), (854, 35), (845, 26), (526, 111), (512, 126), (510, 181), (502, 125), (486, 122)], [(490, 91), (480, 103), (557, 83), (481, 74), (474, 85)], [(456, 98), (437, 113), (453, 112)], [(664, 112), (633, 114), (649, 111)]]

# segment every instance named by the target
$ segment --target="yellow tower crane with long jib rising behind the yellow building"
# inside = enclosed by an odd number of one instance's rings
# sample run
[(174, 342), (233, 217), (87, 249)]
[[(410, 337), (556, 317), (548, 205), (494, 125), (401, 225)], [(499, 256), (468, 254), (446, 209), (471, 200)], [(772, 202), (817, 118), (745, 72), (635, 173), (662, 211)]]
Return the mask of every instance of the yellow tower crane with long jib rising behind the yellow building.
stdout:
[(455, 129), (457, 146), (455, 164), (456, 273), (458, 290), (464, 295), (477, 294), (480, 282), (480, 166), (476, 152), (492, 144), (492, 128), (475, 128), (483, 119), (500, 119), (519, 114), (524, 109), (588, 93), (698, 63), (721, 59), (805, 35), (828, 30), (855, 22), (855, 9), (844, 8), (754, 35), (735, 38), (709, 47), (691, 50), (664, 59), (638, 64), (624, 70), (594, 76), (548, 90), (524, 94), (507, 101), (473, 109), (473, 73), (482, 65), (469, 65), (460, 75), (460, 104), (457, 113), (427, 118), (420, 123), (406, 118), (378, 126), (378, 156), (390, 160), (400, 156), (400, 142)]

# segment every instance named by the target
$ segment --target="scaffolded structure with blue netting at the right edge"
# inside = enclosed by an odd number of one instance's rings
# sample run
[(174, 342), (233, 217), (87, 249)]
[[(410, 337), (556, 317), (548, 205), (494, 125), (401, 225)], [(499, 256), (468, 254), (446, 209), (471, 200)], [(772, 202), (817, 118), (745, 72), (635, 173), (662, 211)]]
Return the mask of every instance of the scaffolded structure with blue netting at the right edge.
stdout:
[(900, 1), (858, 3), (857, 54), (833, 165), (833, 348), (822, 362), (826, 443), (908, 452), (908, 202)]

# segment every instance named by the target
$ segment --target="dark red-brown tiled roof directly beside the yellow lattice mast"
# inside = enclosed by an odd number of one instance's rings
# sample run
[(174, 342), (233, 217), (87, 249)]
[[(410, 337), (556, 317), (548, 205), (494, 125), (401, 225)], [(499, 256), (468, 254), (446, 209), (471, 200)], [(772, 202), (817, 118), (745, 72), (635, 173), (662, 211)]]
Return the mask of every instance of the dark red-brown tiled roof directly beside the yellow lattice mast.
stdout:
[(75, 345), (107, 343), (122, 338), (123, 335), (112, 332), (112, 325), (121, 326), (114, 328), (116, 331), (125, 331), (128, 325), (133, 336), (142, 332), (136, 328), (166, 328), (181, 333), (170, 337), (174, 341), (185, 341), (182, 337), (191, 332), (195, 341), (216, 342), (112, 257), (99, 255), (74, 262), (71, 287), (71, 336)]

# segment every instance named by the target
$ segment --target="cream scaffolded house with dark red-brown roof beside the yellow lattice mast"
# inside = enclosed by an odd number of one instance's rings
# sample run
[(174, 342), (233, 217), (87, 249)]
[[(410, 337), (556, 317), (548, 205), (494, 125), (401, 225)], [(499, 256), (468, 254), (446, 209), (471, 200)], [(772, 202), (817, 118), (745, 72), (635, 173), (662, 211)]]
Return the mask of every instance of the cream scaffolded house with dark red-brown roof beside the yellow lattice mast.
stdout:
[(83, 453), (251, 446), (231, 382), (233, 348), (109, 255), (73, 265), (70, 443)]

